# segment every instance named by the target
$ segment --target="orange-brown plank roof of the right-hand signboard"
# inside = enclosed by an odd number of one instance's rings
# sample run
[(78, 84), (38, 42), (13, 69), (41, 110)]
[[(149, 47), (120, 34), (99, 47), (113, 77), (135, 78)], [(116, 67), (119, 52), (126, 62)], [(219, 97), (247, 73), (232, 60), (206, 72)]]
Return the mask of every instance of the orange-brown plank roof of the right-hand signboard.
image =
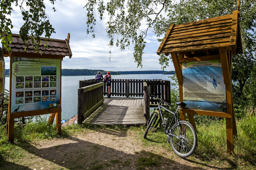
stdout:
[[(222, 47), (231, 47), (234, 54), (242, 53), (238, 11), (221, 17), (175, 25), (172, 24), (162, 40), (157, 54), (191, 51), (193, 56), (205, 50), (214, 51)], [(210, 51), (210, 52), (211, 52)]]

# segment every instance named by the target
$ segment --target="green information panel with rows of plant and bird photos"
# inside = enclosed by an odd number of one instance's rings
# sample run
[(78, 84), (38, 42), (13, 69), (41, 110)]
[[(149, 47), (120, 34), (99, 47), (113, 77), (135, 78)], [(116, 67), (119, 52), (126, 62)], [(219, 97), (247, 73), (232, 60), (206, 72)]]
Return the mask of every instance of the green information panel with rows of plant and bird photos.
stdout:
[(12, 57), (11, 113), (60, 108), (60, 62)]

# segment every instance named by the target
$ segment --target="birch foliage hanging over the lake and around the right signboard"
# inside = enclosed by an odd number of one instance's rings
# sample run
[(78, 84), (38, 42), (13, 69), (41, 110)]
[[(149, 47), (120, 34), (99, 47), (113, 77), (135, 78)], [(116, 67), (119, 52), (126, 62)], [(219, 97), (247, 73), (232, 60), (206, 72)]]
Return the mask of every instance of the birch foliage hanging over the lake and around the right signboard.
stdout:
[[(110, 38), (109, 45), (120, 46), (124, 50), (134, 43), (134, 59), (142, 67), (142, 54), (146, 45), (145, 38), (148, 31), (153, 32), (162, 40), (172, 23), (182, 24), (232, 14), (237, 10), (237, 0), (89, 0), (87, 33), (93, 32), (97, 14), (101, 20), (109, 17), (106, 31)], [(235, 104), (245, 104), (248, 100), (246, 83), (255, 65), (256, 48), (256, 0), (240, 0), (240, 28), (243, 54), (233, 57), (232, 88)], [(146, 25), (146, 26), (145, 26)], [(115, 38), (115, 39), (114, 39)], [(166, 68), (171, 60), (170, 56), (160, 55), (160, 64)], [(250, 91), (251, 93), (251, 91)], [(256, 91), (254, 91), (254, 94)], [(241, 103), (244, 101), (244, 103)], [(245, 104), (246, 105), (246, 104)]]

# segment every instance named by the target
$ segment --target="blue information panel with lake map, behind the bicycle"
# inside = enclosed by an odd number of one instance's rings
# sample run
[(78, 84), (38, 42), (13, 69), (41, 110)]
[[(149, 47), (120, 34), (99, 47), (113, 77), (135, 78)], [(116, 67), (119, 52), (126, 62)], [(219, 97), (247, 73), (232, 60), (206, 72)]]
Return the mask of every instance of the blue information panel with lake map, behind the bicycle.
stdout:
[(226, 112), (221, 61), (182, 62), (183, 102), (188, 109)]

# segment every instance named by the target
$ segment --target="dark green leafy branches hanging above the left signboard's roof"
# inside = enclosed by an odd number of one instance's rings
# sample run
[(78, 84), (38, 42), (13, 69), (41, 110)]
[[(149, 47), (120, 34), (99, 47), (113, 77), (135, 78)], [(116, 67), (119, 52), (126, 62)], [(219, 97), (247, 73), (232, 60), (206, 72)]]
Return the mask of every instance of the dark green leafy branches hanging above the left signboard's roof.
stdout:
[[(54, 5), (56, 0), (49, 1)], [(19, 37), (26, 42), (31, 36), (32, 44), (38, 52), (38, 45), (41, 42), (40, 37), (44, 35), (46, 38), (50, 38), (51, 34), (55, 33), (45, 13), (45, 2), (43, 0), (0, 0), (0, 28), (5, 33), (3, 37), (3, 32), (0, 32), (1, 42), (8, 51), (11, 51), (11, 48), (8, 47), (8, 42), (12, 42), (11, 29), (13, 28), (10, 16), (15, 6), (19, 7), (24, 20), (24, 24), (19, 30)], [(55, 11), (54, 7), (53, 10)], [(28, 44), (26, 45), (28, 47)]]

